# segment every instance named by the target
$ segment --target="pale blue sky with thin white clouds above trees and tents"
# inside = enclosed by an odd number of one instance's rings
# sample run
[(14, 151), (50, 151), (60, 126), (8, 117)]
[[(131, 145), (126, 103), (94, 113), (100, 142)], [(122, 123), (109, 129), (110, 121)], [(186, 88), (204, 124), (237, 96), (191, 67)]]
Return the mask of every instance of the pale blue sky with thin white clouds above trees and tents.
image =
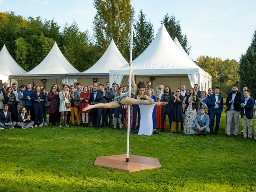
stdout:
[[(208, 55), (239, 61), (256, 30), (256, 0), (132, 0), (132, 7), (136, 20), (143, 10), (155, 35), (164, 15), (174, 15), (188, 37), (193, 60)], [(81, 31), (90, 34), (96, 14), (93, 0), (0, 0), (0, 12), (9, 11), (24, 18), (54, 18), (62, 28), (74, 20)]]

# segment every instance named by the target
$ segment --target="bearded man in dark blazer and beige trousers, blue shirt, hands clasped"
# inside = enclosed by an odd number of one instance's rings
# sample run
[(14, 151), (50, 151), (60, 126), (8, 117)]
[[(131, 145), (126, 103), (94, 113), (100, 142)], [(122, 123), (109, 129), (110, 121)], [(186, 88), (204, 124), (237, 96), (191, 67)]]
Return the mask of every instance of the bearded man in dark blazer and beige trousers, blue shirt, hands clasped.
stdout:
[(230, 136), (230, 125), (234, 118), (235, 120), (235, 130), (234, 136), (237, 136), (237, 132), (239, 129), (239, 114), (240, 114), (240, 102), (242, 100), (242, 93), (238, 92), (238, 86), (232, 86), (232, 92), (228, 94), (226, 99), (227, 106), (227, 130), (226, 136)]

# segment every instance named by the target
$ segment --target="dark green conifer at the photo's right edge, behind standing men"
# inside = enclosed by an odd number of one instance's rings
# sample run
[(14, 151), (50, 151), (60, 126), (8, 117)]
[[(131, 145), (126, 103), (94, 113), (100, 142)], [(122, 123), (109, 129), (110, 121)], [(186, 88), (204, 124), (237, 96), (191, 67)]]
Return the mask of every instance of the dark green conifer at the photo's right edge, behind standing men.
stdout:
[(240, 88), (247, 86), (251, 91), (252, 97), (256, 97), (256, 30), (252, 37), (252, 42), (245, 54), (240, 58), (239, 74)]

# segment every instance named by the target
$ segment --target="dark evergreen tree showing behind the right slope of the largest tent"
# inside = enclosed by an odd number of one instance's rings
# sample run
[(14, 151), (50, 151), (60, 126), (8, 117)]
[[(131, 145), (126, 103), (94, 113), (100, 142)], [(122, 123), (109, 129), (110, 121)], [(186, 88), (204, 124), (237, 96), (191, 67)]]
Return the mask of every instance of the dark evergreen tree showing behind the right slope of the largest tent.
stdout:
[(174, 38), (177, 37), (181, 46), (184, 48), (187, 54), (189, 54), (191, 47), (188, 47), (187, 35), (182, 34), (180, 21), (179, 20), (176, 21), (176, 18), (174, 15), (168, 16), (168, 14), (166, 14), (164, 16), (164, 19), (161, 21), (161, 24), (164, 24), (172, 40), (174, 40)]

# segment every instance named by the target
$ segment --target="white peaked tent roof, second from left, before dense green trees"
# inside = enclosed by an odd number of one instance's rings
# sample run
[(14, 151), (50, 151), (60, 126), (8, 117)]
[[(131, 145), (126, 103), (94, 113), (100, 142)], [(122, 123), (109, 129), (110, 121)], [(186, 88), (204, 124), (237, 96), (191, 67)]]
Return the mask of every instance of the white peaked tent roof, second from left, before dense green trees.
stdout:
[(46, 74), (70, 74), (80, 73), (74, 66), (64, 57), (56, 42), (48, 55), (42, 60), (38, 66), (27, 72), (25, 75), (46, 75)]

